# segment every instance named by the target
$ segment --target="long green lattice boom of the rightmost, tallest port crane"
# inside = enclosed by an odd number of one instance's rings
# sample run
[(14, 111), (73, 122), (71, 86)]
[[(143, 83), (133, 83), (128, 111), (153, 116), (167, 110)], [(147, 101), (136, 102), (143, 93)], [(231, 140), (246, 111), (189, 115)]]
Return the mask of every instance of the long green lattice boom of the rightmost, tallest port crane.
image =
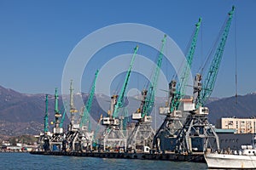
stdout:
[(196, 102), (195, 102), (196, 109), (199, 108), (200, 106), (205, 105), (207, 102), (207, 99), (212, 94), (212, 90), (214, 88), (214, 84), (216, 82), (216, 78), (218, 75), (219, 65), (224, 53), (226, 40), (229, 35), (231, 20), (233, 18), (234, 12), (235, 12), (235, 7), (233, 6), (231, 11), (229, 12), (228, 20), (226, 20), (224, 24), (224, 30), (221, 30), (222, 35), (218, 39), (218, 48), (216, 49), (215, 54), (213, 56), (212, 63), (210, 65), (209, 71), (207, 72), (207, 77), (203, 82), (203, 87), (201, 88), (200, 95), (196, 99)]

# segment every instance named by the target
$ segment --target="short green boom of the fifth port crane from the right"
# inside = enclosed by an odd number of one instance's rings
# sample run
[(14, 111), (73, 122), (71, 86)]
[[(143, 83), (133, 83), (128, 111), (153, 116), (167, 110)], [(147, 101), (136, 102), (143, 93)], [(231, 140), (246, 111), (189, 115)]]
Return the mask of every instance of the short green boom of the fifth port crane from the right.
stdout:
[(80, 127), (82, 127), (86, 122), (88, 122), (88, 132), (90, 132), (90, 129), (91, 129), (90, 109), (91, 109), (91, 105), (92, 105), (93, 96), (95, 94), (95, 87), (96, 87), (96, 80), (97, 80), (97, 77), (98, 77), (98, 73), (99, 73), (99, 70), (96, 70), (95, 78), (94, 78), (94, 81), (92, 83), (92, 87), (90, 89), (90, 95), (89, 95), (89, 98), (86, 101), (84, 111), (83, 111), (83, 114), (82, 114), (81, 120), (80, 120)]

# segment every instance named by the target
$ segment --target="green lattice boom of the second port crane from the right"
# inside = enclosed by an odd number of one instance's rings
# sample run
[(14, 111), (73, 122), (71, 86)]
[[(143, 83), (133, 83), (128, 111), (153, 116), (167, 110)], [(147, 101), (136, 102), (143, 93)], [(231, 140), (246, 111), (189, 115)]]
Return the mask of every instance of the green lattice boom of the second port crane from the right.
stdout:
[[(185, 90), (186, 86), (188, 83), (188, 78), (189, 78), (189, 71), (192, 65), (192, 61), (194, 58), (195, 54), (195, 47), (196, 47), (196, 42), (197, 42), (197, 37), (199, 33), (199, 29), (201, 26), (201, 18), (199, 18), (199, 21), (195, 24), (195, 32), (189, 47), (189, 51), (186, 54), (186, 61), (185, 65), (183, 66), (183, 72), (181, 74), (180, 81), (177, 83), (177, 91), (174, 93), (174, 97), (171, 100), (170, 104), (170, 113), (173, 111), (177, 110), (179, 105), (180, 105), (180, 100), (183, 98), (185, 95)], [(171, 82), (173, 84), (173, 87), (175, 88), (176, 81)]]

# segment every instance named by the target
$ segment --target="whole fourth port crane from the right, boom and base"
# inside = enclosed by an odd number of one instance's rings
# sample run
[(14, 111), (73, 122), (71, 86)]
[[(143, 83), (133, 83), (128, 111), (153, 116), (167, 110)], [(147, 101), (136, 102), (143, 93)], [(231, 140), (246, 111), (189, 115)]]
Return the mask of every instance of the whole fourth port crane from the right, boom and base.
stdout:
[[(102, 118), (102, 125), (106, 126), (103, 132), (103, 149), (106, 151), (107, 146), (114, 148), (116, 145), (126, 147), (126, 138), (122, 132), (122, 119), (119, 118), (120, 109), (124, 106), (125, 91), (131, 76), (131, 69), (137, 54), (138, 46), (134, 48), (131, 58), (131, 63), (128, 71), (126, 72), (125, 82), (119, 92), (119, 95), (114, 94), (111, 97), (110, 111), (108, 116)], [(121, 121), (121, 122), (120, 122)], [(121, 125), (121, 126), (120, 126)]]

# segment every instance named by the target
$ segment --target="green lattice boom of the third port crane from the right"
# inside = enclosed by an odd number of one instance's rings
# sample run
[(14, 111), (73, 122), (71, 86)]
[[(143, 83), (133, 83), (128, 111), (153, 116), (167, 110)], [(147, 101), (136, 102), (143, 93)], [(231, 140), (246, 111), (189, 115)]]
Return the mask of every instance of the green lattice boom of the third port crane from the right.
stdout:
[(144, 101), (145, 103), (142, 108), (142, 117), (149, 116), (154, 107), (155, 88), (157, 87), (157, 82), (158, 82), (158, 77), (160, 74), (160, 67), (162, 65), (163, 51), (164, 51), (165, 45), (166, 45), (166, 35), (162, 40), (160, 54), (159, 54), (159, 57), (157, 60), (155, 70), (154, 70), (154, 76), (150, 83), (150, 87), (148, 88), (148, 92), (146, 93), (147, 96), (146, 96), (146, 99)]

